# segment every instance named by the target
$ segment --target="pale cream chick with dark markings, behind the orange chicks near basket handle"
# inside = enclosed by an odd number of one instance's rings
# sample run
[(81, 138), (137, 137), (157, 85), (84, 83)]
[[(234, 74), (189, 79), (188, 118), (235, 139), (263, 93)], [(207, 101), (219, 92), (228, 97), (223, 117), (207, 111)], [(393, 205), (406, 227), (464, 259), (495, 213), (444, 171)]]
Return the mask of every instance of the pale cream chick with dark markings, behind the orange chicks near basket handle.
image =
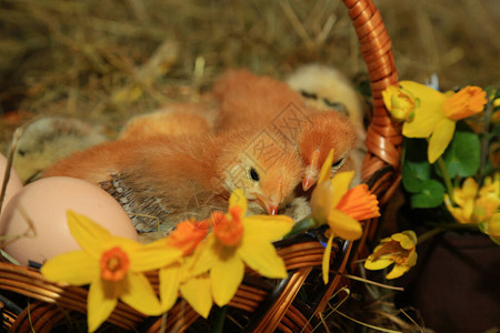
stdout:
[(324, 111), (337, 110), (349, 117), (358, 137), (351, 155), (354, 170), (361, 170), (367, 155), (364, 105), (360, 93), (356, 91), (348, 78), (332, 67), (307, 64), (289, 75), (287, 83), (299, 91), (309, 105)]

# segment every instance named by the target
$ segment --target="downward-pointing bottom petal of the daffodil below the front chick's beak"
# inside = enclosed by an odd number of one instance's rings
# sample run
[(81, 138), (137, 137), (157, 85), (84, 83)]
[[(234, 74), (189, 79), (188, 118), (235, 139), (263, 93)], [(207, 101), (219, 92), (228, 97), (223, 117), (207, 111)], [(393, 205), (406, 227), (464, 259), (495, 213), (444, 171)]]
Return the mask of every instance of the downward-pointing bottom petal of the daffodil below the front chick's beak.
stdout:
[(210, 271), (213, 301), (223, 306), (234, 296), (238, 286), (243, 280), (244, 264), (238, 255), (229, 255), (219, 260)]

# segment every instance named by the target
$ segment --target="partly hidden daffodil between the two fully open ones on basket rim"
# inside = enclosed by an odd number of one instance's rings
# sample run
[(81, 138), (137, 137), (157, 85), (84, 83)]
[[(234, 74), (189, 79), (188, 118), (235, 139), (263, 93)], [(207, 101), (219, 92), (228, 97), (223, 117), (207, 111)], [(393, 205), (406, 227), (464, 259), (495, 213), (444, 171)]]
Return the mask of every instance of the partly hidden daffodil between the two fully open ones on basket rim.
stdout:
[[(210, 313), (212, 294), (209, 275), (206, 272), (191, 271), (192, 263), (203, 251), (202, 246), (198, 245), (206, 238), (208, 230), (207, 221), (183, 221), (167, 239), (147, 245), (179, 249), (184, 255), (181, 261), (160, 269), (160, 296), (163, 312), (173, 306), (180, 290), (184, 300), (200, 315), (207, 317)], [(191, 255), (193, 252), (196, 254)]]

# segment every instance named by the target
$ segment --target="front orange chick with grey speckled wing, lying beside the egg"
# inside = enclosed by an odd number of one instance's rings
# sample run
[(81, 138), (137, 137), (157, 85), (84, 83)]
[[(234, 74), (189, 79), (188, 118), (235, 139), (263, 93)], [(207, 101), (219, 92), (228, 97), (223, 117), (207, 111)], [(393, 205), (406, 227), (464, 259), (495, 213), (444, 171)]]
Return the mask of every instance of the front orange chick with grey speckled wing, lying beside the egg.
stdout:
[(186, 219), (226, 210), (237, 188), (249, 213), (276, 213), (293, 198), (302, 172), (297, 152), (278, 135), (228, 132), (107, 142), (56, 163), (43, 176), (100, 184), (139, 232), (159, 238)]

